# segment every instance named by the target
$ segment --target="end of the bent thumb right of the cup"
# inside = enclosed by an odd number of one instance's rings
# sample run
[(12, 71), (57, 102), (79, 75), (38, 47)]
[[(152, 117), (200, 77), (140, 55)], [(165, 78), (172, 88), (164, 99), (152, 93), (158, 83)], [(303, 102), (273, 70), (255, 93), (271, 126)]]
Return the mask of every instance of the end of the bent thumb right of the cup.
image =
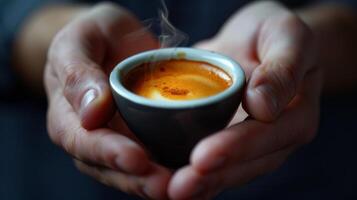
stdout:
[(252, 73), (243, 99), (244, 109), (255, 119), (274, 120), (295, 96), (299, 80), (290, 66), (263, 63)]

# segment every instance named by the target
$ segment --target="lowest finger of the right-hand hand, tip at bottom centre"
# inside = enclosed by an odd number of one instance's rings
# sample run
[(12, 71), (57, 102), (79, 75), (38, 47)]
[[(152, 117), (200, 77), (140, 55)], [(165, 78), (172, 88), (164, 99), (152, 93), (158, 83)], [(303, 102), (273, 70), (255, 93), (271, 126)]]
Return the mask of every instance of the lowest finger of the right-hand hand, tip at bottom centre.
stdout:
[(223, 189), (251, 181), (257, 176), (276, 170), (294, 150), (289, 147), (256, 160), (231, 163), (221, 169), (202, 174), (194, 167), (179, 170), (169, 184), (172, 199), (214, 198)]

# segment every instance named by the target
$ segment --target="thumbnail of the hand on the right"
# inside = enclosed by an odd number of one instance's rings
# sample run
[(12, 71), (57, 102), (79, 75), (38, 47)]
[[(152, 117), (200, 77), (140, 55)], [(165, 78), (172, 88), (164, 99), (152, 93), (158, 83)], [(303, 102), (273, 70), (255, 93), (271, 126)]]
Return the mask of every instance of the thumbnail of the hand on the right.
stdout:
[(274, 115), (279, 111), (278, 99), (276, 97), (276, 92), (271, 85), (259, 85), (255, 88), (255, 91), (264, 96), (267, 102), (268, 109)]

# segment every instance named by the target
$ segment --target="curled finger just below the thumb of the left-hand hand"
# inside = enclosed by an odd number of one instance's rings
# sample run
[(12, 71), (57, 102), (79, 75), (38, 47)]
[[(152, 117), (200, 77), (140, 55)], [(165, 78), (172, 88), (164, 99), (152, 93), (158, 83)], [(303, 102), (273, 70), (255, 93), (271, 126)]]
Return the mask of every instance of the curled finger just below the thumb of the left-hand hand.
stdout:
[(131, 174), (149, 167), (145, 151), (128, 137), (111, 129), (84, 129), (60, 92), (51, 96), (47, 122), (51, 139), (80, 160)]

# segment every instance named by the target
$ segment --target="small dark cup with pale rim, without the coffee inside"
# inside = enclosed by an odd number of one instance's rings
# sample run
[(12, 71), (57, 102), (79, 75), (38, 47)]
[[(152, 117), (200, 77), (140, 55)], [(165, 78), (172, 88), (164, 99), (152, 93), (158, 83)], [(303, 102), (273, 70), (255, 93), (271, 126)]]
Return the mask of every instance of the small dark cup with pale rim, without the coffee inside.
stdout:
[[(194, 100), (152, 100), (129, 91), (124, 77), (143, 63), (188, 60), (209, 63), (226, 72), (232, 84), (224, 91)], [(189, 162), (193, 147), (204, 137), (225, 128), (241, 102), (244, 71), (233, 59), (194, 48), (164, 48), (131, 56), (110, 74), (118, 111), (152, 157), (169, 168)]]

